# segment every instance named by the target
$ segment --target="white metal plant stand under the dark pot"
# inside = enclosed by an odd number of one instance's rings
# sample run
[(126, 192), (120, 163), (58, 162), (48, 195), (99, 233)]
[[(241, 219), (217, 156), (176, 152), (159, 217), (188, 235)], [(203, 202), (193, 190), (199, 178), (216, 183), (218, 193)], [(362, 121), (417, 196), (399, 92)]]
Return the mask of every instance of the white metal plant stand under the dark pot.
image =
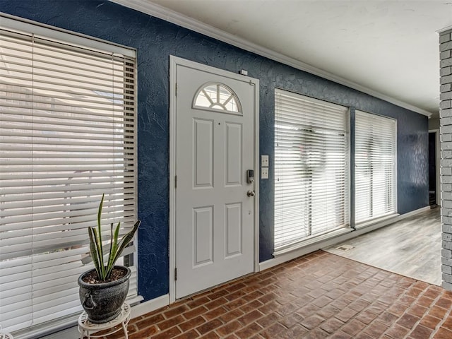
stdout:
[[(78, 332), (81, 333), (81, 339), (88, 337), (91, 338), (100, 338), (104, 335), (109, 335), (112, 333), (116, 333), (117, 331), (124, 331), (124, 335), (126, 339), (129, 338), (127, 333), (127, 325), (130, 320), (130, 306), (126, 302), (122, 304), (121, 313), (112, 321), (108, 321), (107, 323), (91, 323), (88, 321), (88, 314), (85, 311), (78, 317)], [(90, 333), (95, 333), (98, 331), (110, 330), (107, 333), (103, 333), (102, 335), (91, 335)]]

